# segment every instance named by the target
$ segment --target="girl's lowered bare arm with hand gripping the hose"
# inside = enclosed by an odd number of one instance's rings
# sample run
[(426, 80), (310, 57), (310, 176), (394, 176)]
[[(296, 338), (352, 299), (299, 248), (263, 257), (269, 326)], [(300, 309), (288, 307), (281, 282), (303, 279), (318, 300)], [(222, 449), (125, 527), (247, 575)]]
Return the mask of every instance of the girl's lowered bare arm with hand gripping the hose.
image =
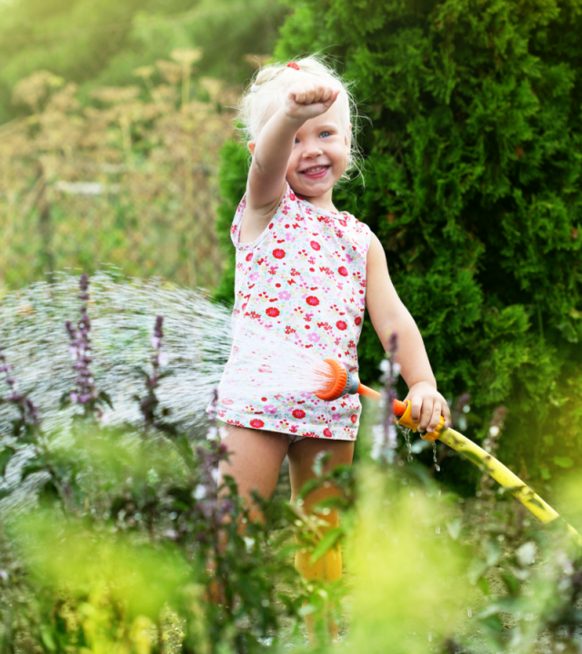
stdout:
[(397, 335), (396, 362), (400, 364), (400, 372), (408, 385), (406, 400), (410, 400), (412, 418), (419, 421), (419, 430), (433, 431), (441, 414), (448, 426), (451, 415), (447, 401), (437, 391), (437, 381), (422, 336), (396, 293), (388, 273), (384, 248), (375, 234), (372, 234), (367, 253), (366, 307), (385, 350), (390, 335)]

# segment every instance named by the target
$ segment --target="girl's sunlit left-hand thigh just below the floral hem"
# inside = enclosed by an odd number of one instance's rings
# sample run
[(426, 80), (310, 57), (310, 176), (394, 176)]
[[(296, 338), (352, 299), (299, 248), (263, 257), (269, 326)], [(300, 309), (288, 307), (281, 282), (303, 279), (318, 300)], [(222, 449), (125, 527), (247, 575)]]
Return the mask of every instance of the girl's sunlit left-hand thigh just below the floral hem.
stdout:
[(226, 425), (221, 439), (230, 454), (229, 461), (220, 464), (221, 478), (230, 475), (246, 500), (253, 490), (270, 497), (289, 447), (286, 434)]

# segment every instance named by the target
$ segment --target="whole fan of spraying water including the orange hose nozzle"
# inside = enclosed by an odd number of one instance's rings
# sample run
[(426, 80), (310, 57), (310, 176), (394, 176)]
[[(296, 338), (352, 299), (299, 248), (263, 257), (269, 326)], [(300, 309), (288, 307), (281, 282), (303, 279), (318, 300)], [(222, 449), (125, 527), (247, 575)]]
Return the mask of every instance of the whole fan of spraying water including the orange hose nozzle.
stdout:
[[(45, 431), (66, 433), (78, 412), (75, 405), (59, 407), (62, 397), (75, 389), (65, 321), (77, 320), (79, 305), (78, 278), (65, 273), (53, 284), (39, 282), (7, 293), (0, 302), (0, 343), (21, 391), (35, 402)], [(123, 281), (98, 272), (90, 282), (87, 311), (95, 390), (105, 391), (113, 402), (113, 409), (102, 416), (106, 424), (143, 420), (135, 398), (145, 391), (139, 369), (149, 365), (157, 314), (164, 316), (160, 363), (172, 372), (160, 381), (157, 396), (169, 410), (169, 420), (182, 431), (206, 422), (206, 406), (223, 372), (219, 392), (229, 396), (249, 389), (294, 393), (330, 388), (335, 388), (336, 397), (348, 391), (377, 395), (343, 367), (331, 367), (249, 319), (236, 321), (238, 346), (233, 348), (230, 308), (211, 302), (204, 292), (156, 279)], [(0, 405), (0, 433), (9, 431), (13, 419), (12, 408)]]

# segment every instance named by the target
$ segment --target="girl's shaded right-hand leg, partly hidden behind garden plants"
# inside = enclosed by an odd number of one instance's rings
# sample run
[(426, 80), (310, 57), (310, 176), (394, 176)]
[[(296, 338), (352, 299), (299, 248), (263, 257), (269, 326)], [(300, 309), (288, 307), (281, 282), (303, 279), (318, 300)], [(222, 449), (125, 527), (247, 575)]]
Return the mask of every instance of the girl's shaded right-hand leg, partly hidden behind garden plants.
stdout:
[[(322, 441), (320, 439), (304, 439), (289, 446), (289, 475), (291, 477), (291, 500), (296, 500), (299, 491), (306, 483), (315, 477), (313, 464), (319, 452), (328, 452), (331, 459), (326, 464), (326, 471), (333, 470), (338, 465), (349, 465), (354, 457), (353, 441)], [(309, 493), (305, 499), (304, 507), (307, 511), (313, 506), (329, 497), (337, 497), (340, 494), (335, 486), (318, 488)], [(338, 524), (337, 511), (332, 510), (328, 515), (321, 518), (333, 529)], [(295, 565), (296, 570), (306, 580), (327, 580), (334, 581), (342, 576), (342, 556), (339, 548), (329, 550), (320, 560), (313, 565), (309, 563), (310, 554), (297, 550)], [(316, 645), (315, 620), (313, 616), (306, 616), (307, 633), (309, 643)], [(333, 619), (328, 621), (328, 629), (332, 640), (337, 639), (337, 625)]]

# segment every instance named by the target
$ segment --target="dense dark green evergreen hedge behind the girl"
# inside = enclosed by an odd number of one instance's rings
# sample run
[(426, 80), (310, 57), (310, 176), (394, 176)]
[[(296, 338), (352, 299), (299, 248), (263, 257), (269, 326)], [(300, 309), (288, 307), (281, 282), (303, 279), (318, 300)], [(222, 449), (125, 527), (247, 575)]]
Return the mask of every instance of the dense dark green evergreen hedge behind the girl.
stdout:
[[(471, 393), (467, 435), (504, 404), (499, 453), (517, 473), (579, 465), (581, 0), (293, 7), (276, 57), (325, 51), (356, 81), (365, 186), (336, 201), (384, 244), (439, 388)], [(244, 162), (225, 149), (231, 219)], [(369, 322), (359, 353), (370, 381), (382, 351)]]

